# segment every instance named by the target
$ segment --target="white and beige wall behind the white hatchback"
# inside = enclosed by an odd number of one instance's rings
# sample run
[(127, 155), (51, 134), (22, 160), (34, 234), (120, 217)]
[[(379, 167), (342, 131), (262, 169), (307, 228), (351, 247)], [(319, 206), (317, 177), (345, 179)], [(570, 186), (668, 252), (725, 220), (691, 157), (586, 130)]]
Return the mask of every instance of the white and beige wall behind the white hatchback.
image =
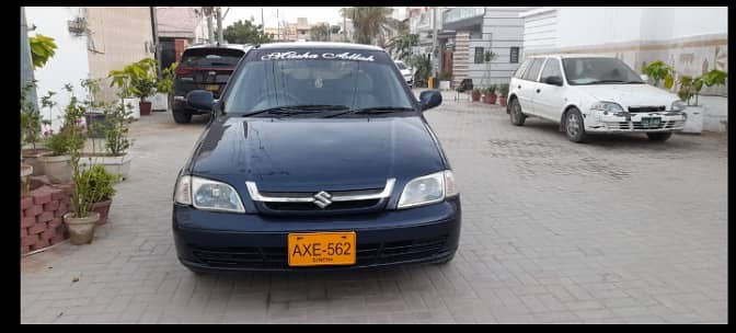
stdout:
[[(640, 72), (656, 60), (686, 76), (728, 71), (726, 8), (544, 7), (520, 16), (525, 56), (603, 54)], [(725, 130), (727, 91), (727, 87), (703, 88), (704, 129)]]

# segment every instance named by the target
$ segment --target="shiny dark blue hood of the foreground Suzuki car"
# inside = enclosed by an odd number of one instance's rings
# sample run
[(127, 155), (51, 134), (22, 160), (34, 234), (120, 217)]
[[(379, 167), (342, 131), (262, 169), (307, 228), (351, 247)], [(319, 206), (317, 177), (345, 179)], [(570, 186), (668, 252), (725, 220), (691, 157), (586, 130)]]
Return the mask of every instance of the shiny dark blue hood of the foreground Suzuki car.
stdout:
[(365, 118), (218, 117), (195, 149), (192, 174), (262, 191), (380, 188), (444, 170), (418, 116)]

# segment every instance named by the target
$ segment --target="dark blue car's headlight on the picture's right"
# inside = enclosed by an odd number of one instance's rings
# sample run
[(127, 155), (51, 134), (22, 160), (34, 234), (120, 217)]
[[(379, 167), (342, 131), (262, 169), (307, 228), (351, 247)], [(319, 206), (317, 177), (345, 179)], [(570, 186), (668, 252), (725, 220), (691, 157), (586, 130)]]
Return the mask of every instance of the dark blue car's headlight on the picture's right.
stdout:
[(406, 183), (396, 208), (409, 208), (439, 203), (446, 197), (458, 195), (452, 171), (446, 170), (416, 177)]

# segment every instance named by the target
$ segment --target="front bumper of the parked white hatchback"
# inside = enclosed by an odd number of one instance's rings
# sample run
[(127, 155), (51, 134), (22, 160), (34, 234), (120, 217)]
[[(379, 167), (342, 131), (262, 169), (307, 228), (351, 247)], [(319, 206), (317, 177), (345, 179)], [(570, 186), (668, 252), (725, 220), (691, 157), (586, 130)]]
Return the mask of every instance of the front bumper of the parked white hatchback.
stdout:
[[(659, 118), (659, 125), (645, 127), (642, 118)], [(685, 127), (687, 115), (679, 111), (651, 113), (610, 113), (590, 111), (585, 115), (586, 133), (666, 133), (678, 131)]]

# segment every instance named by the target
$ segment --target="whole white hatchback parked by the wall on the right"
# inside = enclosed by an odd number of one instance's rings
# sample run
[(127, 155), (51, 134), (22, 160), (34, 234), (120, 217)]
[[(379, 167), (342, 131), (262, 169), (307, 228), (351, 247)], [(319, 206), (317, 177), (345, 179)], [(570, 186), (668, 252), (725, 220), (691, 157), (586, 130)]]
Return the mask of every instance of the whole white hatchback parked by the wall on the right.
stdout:
[(645, 133), (664, 141), (682, 130), (685, 104), (677, 95), (646, 84), (623, 61), (600, 55), (529, 57), (509, 84), (511, 124), (527, 116), (560, 124), (575, 142), (589, 134)]

